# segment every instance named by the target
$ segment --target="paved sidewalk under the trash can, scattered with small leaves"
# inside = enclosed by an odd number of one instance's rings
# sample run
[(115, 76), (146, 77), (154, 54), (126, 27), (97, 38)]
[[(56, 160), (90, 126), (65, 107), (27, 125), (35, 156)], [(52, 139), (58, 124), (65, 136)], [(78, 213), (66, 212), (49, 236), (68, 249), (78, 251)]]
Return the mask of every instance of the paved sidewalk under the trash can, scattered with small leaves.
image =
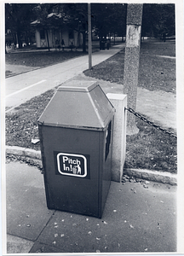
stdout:
[(112, 182), (101, 219), (49, 210), (43, 174), (10, 162), (8, 253), (151, 253), (176, 251), (176, 186)]

